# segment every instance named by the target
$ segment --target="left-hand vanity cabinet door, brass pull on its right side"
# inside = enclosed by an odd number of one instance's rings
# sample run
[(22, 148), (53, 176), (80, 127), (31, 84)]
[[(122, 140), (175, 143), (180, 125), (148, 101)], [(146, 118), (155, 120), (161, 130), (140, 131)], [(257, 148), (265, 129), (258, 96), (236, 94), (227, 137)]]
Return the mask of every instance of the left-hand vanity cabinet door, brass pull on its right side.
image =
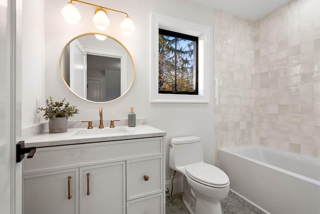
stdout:
[(77, 214), (78, 168), (23, 176), (24, 214)]

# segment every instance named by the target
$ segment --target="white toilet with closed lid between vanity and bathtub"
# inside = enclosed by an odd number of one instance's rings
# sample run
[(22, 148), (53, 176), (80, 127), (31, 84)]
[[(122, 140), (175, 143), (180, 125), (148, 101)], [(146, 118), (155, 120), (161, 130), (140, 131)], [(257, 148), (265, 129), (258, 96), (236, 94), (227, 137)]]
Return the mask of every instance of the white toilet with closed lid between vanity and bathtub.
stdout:
[(191, 214), (221, 214), (220, 201), (229, 192), (229, 178), (219, 168), (204, 163), (200, 138), (171, 139), (169, 166), (182, 173), (182, 201)]

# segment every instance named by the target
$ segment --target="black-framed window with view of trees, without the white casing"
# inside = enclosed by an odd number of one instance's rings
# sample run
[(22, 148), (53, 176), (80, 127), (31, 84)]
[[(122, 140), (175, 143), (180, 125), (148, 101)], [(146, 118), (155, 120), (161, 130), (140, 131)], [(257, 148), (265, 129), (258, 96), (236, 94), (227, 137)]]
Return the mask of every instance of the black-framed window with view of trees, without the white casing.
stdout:
[(159, 94), (198, 94), (198, 38), (159, 29)]

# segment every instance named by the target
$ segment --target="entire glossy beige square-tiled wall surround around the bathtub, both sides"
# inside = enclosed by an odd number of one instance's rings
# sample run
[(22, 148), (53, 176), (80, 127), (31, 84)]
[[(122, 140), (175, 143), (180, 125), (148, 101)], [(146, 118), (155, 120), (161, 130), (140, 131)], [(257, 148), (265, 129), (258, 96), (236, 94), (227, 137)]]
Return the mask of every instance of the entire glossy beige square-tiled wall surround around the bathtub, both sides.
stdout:
[(214, 14), (217, 150), (261, 144), (320, 158), (320, 1), (250, 22)]

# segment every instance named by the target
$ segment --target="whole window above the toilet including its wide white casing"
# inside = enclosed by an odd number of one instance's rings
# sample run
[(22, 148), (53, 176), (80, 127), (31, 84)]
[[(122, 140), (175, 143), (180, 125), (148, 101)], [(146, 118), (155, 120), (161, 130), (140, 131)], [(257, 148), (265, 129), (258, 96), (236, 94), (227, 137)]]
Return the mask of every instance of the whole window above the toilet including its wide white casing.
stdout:
[[(211, 63), (212, 57), (211, 53), (213, 52), (213, 47), (211, 45), (211, 28), (209, 27), (212, 25), (211, 21), (206, 22), (208, 26), (181, 20), (175, 17), (169, 17), (166, 15), (158, 14), (151, 12), (151, 68), (150, 68), (150, 102), (152, 103), (209, 103), (210, 102), (210, 83), (213, 81), (213, 71), (211, 70)], [(179, 71), (179, 66), (181, 64), (172, 63), (171, 67), (176, 67), (172, 69), (164, 69), (163, 62), (159, 59), (159, 29), (165, 30), (165, 32), (176, 32), (174, 35), (166, 35), (168, 38), (173, 37), (179, 38), (180, 40), (188, 41), (190, 44), (196, 41), (196, 45), (193, 46), (193, 56), (189, 56), (186, 58), (189, 64), (186, 66), (188, 67), (188, 71), (184, 72), (183, 75), (189, 73), (189, 77), (192, 76), (192, 79), (189, 78), (188, 80), (188, 88), (187, 90), (183, 89), (180, 90), (180, 80), (186, 80), (188, 78), (180, 78), (179, 72), (176, 72), (178, 78), (175, 78), (175, 70)], [(160, 30), (160, 31), (162, 31)], [(186, 35), (187, 38), (185, 38)], [(195, 40), (197, 38), (197, 40)], [(172, 42), (173, 43), (173, 42)], [(191, 45), (190, 45), (191, 46)], [(172, 47), (171, 47), (172, 49)], [(177, 51), (179, 48), (174, 48)], [(191, 48), (190, 48), (191, 50)], [(191, 52), (190, 50), (186, 52)], [(173, 59), (177, 58), (175, 55), (171, 55), (173, 51), (167, 52), (162, 57), (168, 57)], [(195, 53), (195, 54), (194, 54)], [(177, 55), (178, 56), (178, 55)], [(186, 55), (185, 55), (186, 56)], [(185, 58), (184, 56), (184, 58)], [(167, 61), (169, 61), (167, 59)], [(191, 69), (191, 61), (193, 59), (193, 68)], [(182, 59), (181, 59), (182, 60)], [(181, 61), (180, 60), (180, 61)], [(185, 59), (184, 59), (185, 60)], [(177, 60), (178, 61), (178, 60)], [(197, 61), (197, 62), (196, 62)], [(159, 70), (159, 64), (161, 64), (161, 68)], [(163, 67), (163, 68), (162, 68)], [(161, 70), (162, 69), (162, 70)], [(174, 70), (174, 78), (173, 74), (168, 72), (169, 70)], [(192, 71), (192, 75), (191, 75)], [(169, 78), (169, 83), (165, 83), (168, 86), (164, 85), (164, 79), (161, 77), (163, 75), (171, 76)], [(159, 84), (160, 81), (160, 84)], [(177, 84), (173, 84), (173, 82), (177, 82)], [(172, 87), (174, 85), (174, 87)], [(185, 85), (185, 84), (181, 84)], [(160, 87), (159, 87), (160, 86)]]

